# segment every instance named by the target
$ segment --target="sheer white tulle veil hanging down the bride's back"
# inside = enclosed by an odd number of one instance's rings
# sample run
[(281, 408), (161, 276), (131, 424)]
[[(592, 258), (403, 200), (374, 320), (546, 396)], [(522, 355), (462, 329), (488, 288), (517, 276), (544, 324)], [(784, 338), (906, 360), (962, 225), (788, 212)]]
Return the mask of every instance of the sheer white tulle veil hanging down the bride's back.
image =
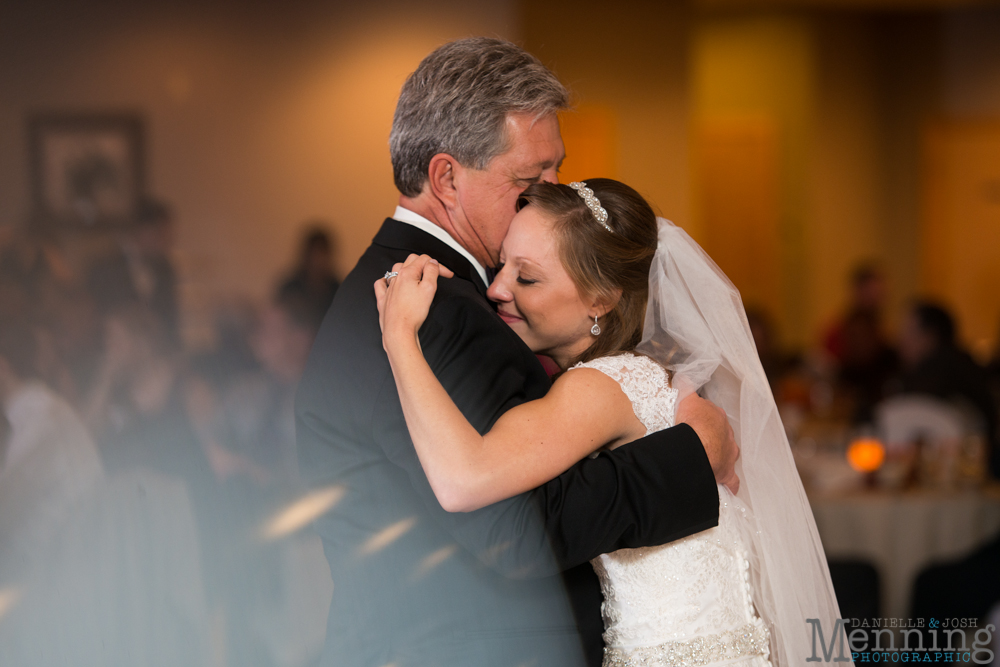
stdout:
[(806, 619), (820, 620), (829, 647), (840, 611), (743, 303), (684, 230), (663, 218), (658, 224), (638, 351), (674, 370), (682, 397), (700, 391), (729, 416), (741, 448), (741, 484), (735, 499), (723, 499), (746, 510), (754, 604), (770, 630), (774, 664), (805, 664), (813, 655)]

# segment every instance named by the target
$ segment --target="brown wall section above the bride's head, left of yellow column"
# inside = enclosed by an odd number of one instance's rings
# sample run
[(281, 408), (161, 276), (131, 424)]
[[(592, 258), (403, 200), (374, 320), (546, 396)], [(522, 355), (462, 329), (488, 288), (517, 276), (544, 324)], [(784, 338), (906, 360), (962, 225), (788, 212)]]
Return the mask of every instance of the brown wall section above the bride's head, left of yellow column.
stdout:
[[(521, 3), (524, 44), (588, 113), (613, 119), (612, 174), (666, 217), (690, 222), (689, 13), (683, 3)], [(567, 165), (573, 160), (567, 137)], [(580, 177), (608, 174), (577, 174)]]

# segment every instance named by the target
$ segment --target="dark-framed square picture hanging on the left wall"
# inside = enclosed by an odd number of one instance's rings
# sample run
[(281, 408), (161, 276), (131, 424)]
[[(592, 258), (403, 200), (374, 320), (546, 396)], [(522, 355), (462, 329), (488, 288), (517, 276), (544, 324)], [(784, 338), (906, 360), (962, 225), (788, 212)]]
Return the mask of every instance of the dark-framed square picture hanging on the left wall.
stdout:
[(40, 224), (78, 229), (129, 224), (143, 192), (139, 114), (38, 114), (29, 119), (28, 132)]

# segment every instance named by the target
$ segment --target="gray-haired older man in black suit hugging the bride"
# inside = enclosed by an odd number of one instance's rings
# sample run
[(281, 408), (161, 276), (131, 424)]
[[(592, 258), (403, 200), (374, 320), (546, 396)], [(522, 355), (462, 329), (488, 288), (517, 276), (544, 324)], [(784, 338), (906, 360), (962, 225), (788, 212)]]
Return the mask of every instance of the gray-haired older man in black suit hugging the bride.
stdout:
[(549, 387), (486, 299), (486, 267), (518, 194), (557, 179), (566, 99), (535, 58), (485, 38), (442, 46), (403, 86), (390, 138), (399, 206), (338, 291), (296, 405), (302, 474), (339, 499), (316, 522), (334, 580), (324, 664), (600, 664), (588, 561), (718, 520), (710, 459), (725, 481), (736, 447), (700, 399), (685, 406), (694, 428), (602, 453), (468, 514), (441, 509), (410, 442), (371, 289), (410, 253), (455, 272), (420, 341), (478, 429)]

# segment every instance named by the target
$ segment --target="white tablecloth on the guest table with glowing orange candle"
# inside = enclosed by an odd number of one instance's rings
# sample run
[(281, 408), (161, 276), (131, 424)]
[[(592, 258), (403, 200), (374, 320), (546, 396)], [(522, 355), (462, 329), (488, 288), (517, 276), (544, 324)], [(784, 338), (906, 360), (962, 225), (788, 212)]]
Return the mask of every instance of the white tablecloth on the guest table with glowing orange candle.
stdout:
[(828, 558), (878, 568), (882, 615), (909, 615), (913, 583), (931, 563), (971, 552), (1000, 532), (1000, 488), (858, 492), (810, 498)]

